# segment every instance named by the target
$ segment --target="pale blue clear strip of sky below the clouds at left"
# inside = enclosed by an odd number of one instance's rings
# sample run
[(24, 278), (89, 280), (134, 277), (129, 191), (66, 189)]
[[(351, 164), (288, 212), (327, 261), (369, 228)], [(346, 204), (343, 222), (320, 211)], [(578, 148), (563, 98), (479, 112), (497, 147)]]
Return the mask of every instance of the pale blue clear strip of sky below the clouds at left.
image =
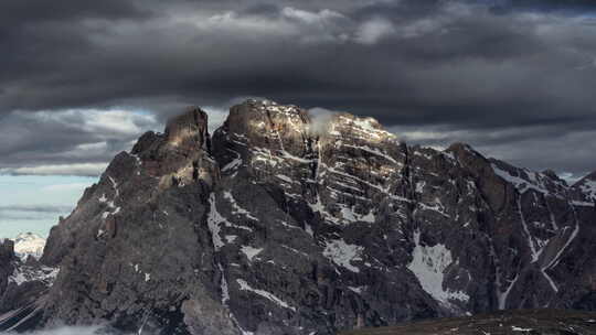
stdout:
[(0, 238), (32, 231), (47, 237), (97, 177), (0, 175)]

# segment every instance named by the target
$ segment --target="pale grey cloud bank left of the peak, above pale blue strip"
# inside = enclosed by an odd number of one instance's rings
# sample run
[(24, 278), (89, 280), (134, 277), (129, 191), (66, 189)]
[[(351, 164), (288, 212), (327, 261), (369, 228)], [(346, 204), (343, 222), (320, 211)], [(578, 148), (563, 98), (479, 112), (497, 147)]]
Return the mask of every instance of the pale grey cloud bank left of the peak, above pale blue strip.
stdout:
[(123, 110), (14, 111), (0, 122), (0, 173), (97, 175), (157, 123)]

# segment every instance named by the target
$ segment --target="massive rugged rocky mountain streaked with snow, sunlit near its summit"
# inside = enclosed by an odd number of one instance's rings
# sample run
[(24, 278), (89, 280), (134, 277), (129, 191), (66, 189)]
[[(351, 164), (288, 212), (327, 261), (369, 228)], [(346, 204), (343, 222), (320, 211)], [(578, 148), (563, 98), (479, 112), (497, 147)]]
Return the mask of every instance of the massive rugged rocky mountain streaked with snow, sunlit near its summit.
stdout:
[(52, 228), (39, 267), (60, 272), (17, 320), (321, 335), (595, 310), (585, 190), (462, 143), (408, 147), (371, 118), (247, 100), (210, 136), (190, 108), (116, 155)]

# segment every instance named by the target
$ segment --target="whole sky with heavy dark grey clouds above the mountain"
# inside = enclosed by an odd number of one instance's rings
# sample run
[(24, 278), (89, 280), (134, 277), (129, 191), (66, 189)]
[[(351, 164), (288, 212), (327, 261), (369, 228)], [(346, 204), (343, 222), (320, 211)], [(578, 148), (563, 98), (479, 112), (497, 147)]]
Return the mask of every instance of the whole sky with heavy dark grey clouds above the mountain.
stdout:
[(595, 14), (593, 0), (2, 0), (0, 236), (46, 231), (185, 106), (213, 130), (247, 97), (578, 179), (596, 170)]

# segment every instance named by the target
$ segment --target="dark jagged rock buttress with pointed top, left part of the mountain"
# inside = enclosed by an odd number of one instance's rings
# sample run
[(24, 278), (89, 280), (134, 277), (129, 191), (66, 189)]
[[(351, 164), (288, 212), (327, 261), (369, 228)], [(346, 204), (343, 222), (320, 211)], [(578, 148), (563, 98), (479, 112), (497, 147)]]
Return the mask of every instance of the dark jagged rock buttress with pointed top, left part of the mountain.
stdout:
[(61, 272), (49, 293), (47, 323), (111, 320), (123, 331), (142, 324), (168, 334), (188, 332), (179, 328), (187, 323), (213, 334), (217, 323), (184, 312), (198, 301), (210, 318), (220, 315), (235, 329), (219, 303), (205, 223), (219, 179), (209, 142), (206, 114), (193, 108), (114, 159), (52, 229), (42, 261), (60, 262)]

